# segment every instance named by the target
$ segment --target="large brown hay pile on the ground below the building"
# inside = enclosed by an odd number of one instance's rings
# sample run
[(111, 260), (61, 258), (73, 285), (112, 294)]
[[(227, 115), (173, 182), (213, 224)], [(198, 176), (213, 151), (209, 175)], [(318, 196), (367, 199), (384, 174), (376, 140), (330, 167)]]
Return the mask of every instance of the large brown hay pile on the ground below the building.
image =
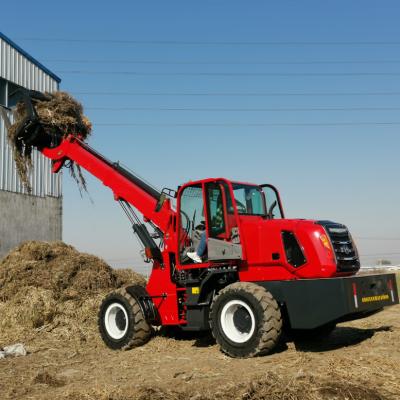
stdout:
[(100, 302), (130, 283), (145, 280), (62, 242), (26, 242), (0, 262), (0, 346), (38, 332), (80, 342), (98, 338)]

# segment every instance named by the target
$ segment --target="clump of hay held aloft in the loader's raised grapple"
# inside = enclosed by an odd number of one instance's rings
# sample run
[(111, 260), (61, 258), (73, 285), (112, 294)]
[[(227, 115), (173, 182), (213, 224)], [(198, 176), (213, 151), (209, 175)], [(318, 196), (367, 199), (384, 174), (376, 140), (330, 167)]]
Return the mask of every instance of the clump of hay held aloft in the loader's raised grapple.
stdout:
[[(46, 134), (52, 136), (75, 135), (86, 139), (92, 130), (92, 124), (83, 114), (83, 107), (66, 92), (46, 93), (49, 100), (34, 101), (34, 106)], [(8, 130), (8, 139), (14, 149), (14, 159), (19, 177), (28, 191), (29, 171), (32, 168), (32, 146), (27, 146), (18, 140), (17, 132), (26, 117), (24, 103), (17, 104), (14, 110), (14, 124)], [(86, 190), (85, 179), (79, 165), (71, 163), (70, 172), (79, 189)]]

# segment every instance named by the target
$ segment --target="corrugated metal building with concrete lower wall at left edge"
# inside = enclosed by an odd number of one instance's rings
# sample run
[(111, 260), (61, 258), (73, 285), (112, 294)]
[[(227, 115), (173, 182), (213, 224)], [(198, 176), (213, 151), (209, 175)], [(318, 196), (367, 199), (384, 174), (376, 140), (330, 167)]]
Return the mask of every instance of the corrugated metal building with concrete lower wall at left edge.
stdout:
[[(19, 87), (52, 92), (59, 83), (58, 76), (0, 32), (1, 105), (14, 106)], [(0, 118), (0, 257), (24, 240), (61, 240), (61, 174), (52, 174), (51, 161), (37, 151), (32, 161), (32, 192), (27, 193)]]

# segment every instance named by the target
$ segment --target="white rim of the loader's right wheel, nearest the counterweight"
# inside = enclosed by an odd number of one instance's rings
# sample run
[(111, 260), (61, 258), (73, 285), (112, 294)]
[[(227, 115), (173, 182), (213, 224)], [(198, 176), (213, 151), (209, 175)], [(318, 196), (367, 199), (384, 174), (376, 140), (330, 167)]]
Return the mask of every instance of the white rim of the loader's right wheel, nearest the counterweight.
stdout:
[[(247, 324), (250, 323), (250, 329), (241, 330), (235, 323), (235, 314), (240, 310), (243, 316), (247, 319)], [(231, 300), (225, 304), (220, 314), (221, 328), (226, 337), (235, 343), (245, 343), (254, 334), (256, 329), (256, 321), (253, 310), (242, 300)]]

